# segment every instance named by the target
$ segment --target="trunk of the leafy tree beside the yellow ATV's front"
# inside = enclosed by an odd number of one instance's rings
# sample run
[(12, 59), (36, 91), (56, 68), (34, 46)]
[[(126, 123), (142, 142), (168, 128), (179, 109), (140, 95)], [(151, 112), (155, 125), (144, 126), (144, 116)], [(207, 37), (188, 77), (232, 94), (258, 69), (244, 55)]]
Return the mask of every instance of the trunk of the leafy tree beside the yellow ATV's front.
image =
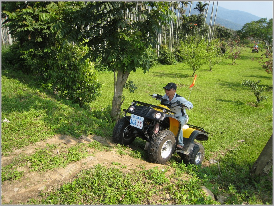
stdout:
[(117, 72), (114, 72), (114, 95), (112, 100), (112, 108), (111, 108), (111, 117), (114, 121), (117, 121), (120, 117), (121, 106), (123, 104), (123, 89), (125, 83), (127, 82), (127, 78), (129, 77), (130, 72), (127, 72), (122, 69), (119, 69)]

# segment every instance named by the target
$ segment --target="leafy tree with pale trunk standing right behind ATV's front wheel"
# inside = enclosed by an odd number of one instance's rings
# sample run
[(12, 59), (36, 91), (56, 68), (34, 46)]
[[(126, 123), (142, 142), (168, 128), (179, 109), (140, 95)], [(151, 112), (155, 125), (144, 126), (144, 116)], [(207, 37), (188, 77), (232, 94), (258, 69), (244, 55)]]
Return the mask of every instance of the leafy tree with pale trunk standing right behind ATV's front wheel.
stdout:
[(93, 58), (100, 59), (114, 72), (111, 115), (115, 120), (121, 112), (123, 88), (129, 74), (140, 67), (144, 73), (149, 70), (150, 47), (158, 44), (161, 24), (176, 19), (168, 2), (144, 4), (147, 9), (136, 11), (136, 2), (93, 2), (73, 17), (77, 37), (87, 39)]

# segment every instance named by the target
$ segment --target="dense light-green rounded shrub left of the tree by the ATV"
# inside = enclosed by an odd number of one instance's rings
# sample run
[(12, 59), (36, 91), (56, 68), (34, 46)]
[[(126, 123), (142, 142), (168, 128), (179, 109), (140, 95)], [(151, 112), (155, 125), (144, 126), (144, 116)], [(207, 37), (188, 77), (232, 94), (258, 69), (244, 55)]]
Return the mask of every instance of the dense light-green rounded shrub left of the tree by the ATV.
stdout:
[(84, 56), (88, 47), (66, 46), (60, 48), (55, 59), (48, 60), (50, 69), (46, 76), (52, 86), (68, 98), (82, 106), (100, 95), (101, 83), (97, 80), (98, 72), (94, 64)]

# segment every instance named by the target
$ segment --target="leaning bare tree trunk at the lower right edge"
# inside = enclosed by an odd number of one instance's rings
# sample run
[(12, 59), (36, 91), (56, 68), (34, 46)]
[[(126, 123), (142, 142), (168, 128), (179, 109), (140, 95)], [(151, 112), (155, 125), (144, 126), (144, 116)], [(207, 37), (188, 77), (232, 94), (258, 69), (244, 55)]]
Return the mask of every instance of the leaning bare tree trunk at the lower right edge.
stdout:
[(259, 155), (258, 159), (255, 161), (254, 165), (251, 168), (250, 174), (259, 176), (268, 174), (273, 162), (273, 134), (269, 138), (268, 142), (266, 143), (263, 151)]

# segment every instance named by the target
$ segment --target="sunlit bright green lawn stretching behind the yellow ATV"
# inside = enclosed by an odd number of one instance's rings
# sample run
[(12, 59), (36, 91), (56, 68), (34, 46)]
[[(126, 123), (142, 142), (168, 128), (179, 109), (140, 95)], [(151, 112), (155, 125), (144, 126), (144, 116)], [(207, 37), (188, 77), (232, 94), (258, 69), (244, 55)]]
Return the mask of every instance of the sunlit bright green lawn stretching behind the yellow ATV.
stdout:
[[(162, 89), (168, 82), (175, 82), (178, 85), (177, 93), (188, 98), (194, 108), (187, 111), (190, 116), (189, 124), (204, 127), (210, 132), (210, 139), (203, 142), (207, 159), (211, 155), (224, 150), (241, 148), (241, 151), (249, 151), (247, 155), (242, 152), (235, 157), (233, 155), (226, 161), (236, 161), (238, 164), (252, 164), (269, 139), (271, 123), (266, 116), (272, 111), (272, 76), (264, 72), (260, 64), (253, 58), (259, 58), (260, 53), (245, 52), (241, 59), (227, 59), (213, 67), (212, 72), (204, 65), (196, 74), (196, 84), (190, 94), (192, 70), (184, 64), (176, 66), (156, 66), (151, 68), (148, 74), (142, 70), (131, 73), (130, 80), (137, 85), (135, 93), (124, 91), (125, 102), (122, 108), (127, 108), (132, 100), (140, 100), (152, 104), (158, 104), (148, 94), (164, 94)], [(244, 79), (261, 80), (259, 86), (267, 86), (268, 89), (263, 95), (269, 96), (268, 101), (263, 101), (258, 107), (252, 106), (256, 98), (250, 88), (241, 86)], [(104, 82), (101, 98), (91, 103), (94, 108), (106, 107), (111, 104), (113, 97), (113, 76), (111, 74), (100, 74), (99, 80)], [(245, 142), (237, 142), (238, 140)], [(252, 149), (250, 149), (252, 148)]]

